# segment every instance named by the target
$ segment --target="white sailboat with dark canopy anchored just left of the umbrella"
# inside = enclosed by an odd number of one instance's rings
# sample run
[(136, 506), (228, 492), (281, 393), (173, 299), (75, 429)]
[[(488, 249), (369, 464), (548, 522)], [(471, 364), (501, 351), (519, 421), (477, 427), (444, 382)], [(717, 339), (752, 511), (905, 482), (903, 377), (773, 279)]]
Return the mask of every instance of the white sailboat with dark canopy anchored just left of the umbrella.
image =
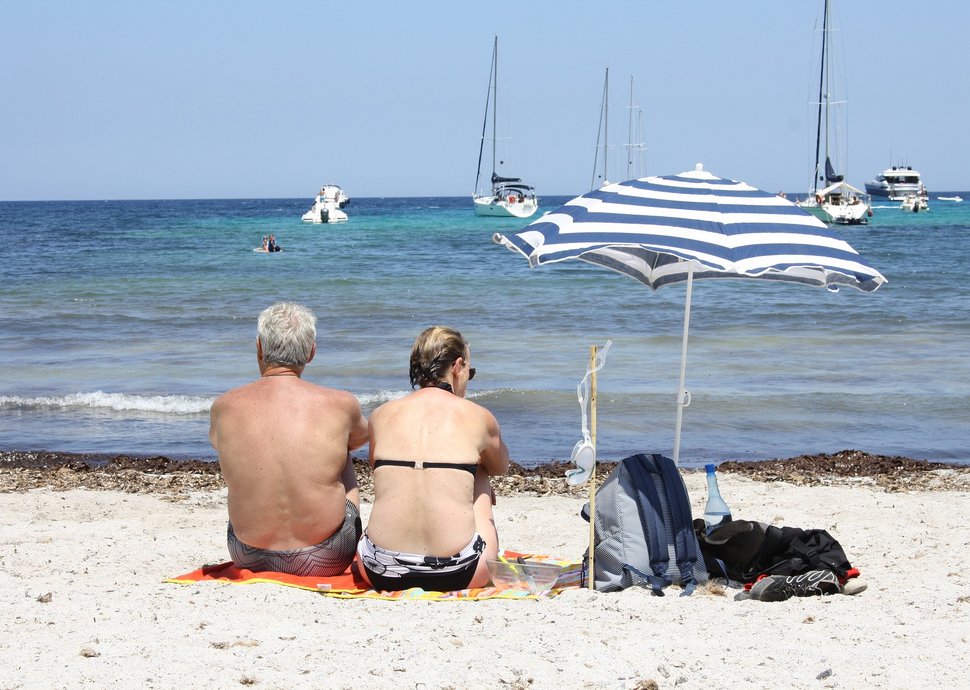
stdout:
[[(489, 105), (491, 104), (492, 120), (492, 176), (487, 192), (479, 188), (482, 177), (482, 154), (485, 151), (485, 133), (489, 121)], [(475, 177), (475, 194), (472, 201), (475, 205), (475, 215), (503, 216), (528, 218), (539, 209), (539, 198), (535, 189), (522, 182), (519, 177), (503, 177), (497, 172), (496, 146), (498, 142), (498, 36), (492, 48), (492, 69), (488, 78), (488, 95), (485, 98), (485, 119), (482, 122), (482, 141), (478, 148), (478, 174)]]

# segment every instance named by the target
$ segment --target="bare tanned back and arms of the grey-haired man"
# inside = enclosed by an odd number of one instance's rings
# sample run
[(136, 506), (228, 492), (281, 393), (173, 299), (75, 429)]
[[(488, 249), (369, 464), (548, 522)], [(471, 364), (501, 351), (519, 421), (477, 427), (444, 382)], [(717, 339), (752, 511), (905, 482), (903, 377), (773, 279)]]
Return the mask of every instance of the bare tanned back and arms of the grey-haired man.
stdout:
[(349, 451), (367, 442), (367, 421), (352, 394), (300, 378), (315, 351), (269, 362), (257, 339), (260, 378), (212, 405), (209, 438), (229, 488), (229, 521), (250, 547), (320, 544), (341, 529), (348, 500), (359, 506)]

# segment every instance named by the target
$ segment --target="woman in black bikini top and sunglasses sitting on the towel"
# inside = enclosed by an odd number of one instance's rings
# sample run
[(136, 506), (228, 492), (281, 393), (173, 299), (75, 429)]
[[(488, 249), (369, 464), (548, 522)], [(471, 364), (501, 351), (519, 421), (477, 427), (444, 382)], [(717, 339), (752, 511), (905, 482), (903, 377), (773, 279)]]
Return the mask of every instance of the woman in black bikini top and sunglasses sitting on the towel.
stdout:
[(370, 416), (374, 504), (358, 555), (379, 590), (452, 591), (489, 582), (498, 555), (489, 477), (509, 452), (495, 417), (465, 399), (475, 377), (462, 335), (433, 326), (411, 350), (413, 391)]

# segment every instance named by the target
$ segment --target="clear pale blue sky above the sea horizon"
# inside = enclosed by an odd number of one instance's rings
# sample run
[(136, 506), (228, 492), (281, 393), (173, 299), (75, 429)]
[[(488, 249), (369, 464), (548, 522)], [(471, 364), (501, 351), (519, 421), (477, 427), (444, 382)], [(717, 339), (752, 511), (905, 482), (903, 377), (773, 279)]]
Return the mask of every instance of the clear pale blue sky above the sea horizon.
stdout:
[[(820, 0), (5, 3), (0, 199), (471, 194), (492, 38), (504, 171), (587, 191), (610, 68), (649, 174), (803, 191)], [(848, 180), (970, 189), (966, 3), (841, 0)], [(617, 150), (610, 153), (619, 158)]]

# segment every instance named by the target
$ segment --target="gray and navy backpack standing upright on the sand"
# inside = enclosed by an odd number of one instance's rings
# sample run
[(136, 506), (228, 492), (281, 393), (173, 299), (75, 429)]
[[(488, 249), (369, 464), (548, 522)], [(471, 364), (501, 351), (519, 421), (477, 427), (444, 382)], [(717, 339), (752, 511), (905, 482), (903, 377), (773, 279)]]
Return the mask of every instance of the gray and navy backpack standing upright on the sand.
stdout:
[[(589, 504), (583, 508), (589, 520)], [(596, 492), (595, 585), (613, 592), (638, 585), (663, 596), (679, 584), (690, 596), (707, 582), (691, 521), (687, 487), (673, 460), (638, 453), (624, 458)], [(584, 557), (588, 576), (589, 551)]]

